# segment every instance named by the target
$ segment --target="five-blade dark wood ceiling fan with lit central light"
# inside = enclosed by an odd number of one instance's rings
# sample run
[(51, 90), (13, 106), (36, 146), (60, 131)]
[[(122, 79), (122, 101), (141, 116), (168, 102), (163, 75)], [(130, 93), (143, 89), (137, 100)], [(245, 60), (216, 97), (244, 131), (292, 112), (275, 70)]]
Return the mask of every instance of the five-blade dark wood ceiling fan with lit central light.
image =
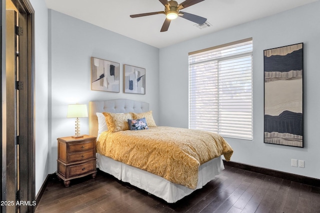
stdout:
[(161, 27), (160, 32), (167, 31), (171, 20), (177, 18), (178, 16), (185, 18), (187, 20), (193, 21), (198, 24), (203, 24), (206, 21), (206, 18), (204, 18), (204, 17), (180, 11), (180, 9), (183, 9), (183, 8), (186, 8), (186, 7), (191, 6), (193, 4), (199, 3), (203, 0), (185, 0), (179, 4), (175, 0), (169, 0), (169, 1), (168, 0), (159, 0), (159, 1), (164, 5), (164, 11), (134, 14), (134, 15), (130, 15), (130, 17), (136, 18), (136, 17), (141, 17), (141, 16), (147, 16), (147, 15), (165, 14), (166, 18), (164, 20), (164, 23)]

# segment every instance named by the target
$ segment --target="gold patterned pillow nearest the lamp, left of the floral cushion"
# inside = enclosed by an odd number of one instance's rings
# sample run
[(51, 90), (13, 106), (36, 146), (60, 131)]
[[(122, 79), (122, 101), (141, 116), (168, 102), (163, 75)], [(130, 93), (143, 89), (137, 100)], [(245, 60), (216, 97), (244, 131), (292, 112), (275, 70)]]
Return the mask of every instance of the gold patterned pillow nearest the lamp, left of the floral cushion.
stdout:
[(129, 130), (128, 119), (132, 119), (131, 113), (109, 113), (102, 112), (105, 117), (105, 122), (109, 132), (118, 132), (122, 130)]

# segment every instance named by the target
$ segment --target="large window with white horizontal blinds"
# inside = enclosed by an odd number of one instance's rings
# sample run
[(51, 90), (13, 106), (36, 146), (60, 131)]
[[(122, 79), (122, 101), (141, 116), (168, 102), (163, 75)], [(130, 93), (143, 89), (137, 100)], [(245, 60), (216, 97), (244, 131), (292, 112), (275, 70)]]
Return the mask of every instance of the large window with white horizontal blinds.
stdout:
[(252, 38), (189, 53), (189, 128), (252, 140)]

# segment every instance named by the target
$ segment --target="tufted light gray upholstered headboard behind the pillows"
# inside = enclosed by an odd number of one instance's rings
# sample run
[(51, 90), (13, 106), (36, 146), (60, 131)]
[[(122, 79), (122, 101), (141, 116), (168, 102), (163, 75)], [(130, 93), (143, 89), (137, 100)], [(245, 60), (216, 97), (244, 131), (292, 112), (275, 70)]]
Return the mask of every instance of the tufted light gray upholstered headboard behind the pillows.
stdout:
[(106, 101), (89, 102), (89, 135), (97, 136), (98, 120), (96, 112), (127, 113), (127, 112), (147, 112), (149, 104), (129, 99), (115, 99)]

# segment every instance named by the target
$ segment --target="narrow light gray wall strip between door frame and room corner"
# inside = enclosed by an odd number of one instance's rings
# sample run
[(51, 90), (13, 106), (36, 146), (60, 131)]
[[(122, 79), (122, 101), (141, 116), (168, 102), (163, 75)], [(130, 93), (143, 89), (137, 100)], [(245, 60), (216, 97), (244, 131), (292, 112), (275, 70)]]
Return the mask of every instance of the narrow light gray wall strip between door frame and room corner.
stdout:
[(48, 175), (48, 10), (43, 0), (30, 0), (34, 9), (34, 143), (35, 195)]

